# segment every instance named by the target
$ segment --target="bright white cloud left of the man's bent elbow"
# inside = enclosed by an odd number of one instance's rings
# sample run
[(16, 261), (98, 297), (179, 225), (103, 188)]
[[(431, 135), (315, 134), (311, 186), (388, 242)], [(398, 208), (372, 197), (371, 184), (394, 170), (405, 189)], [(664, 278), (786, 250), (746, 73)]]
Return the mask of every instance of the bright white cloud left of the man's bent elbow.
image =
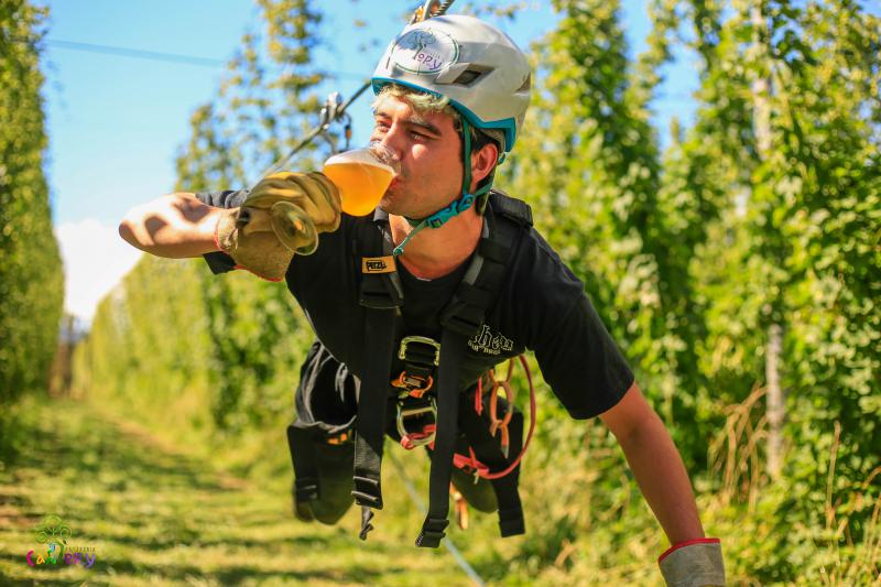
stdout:
[(65, 273), (65, 311), (90, 323), (95, 306), (128, 273), (141, 251), (122, 240), (116, 226), (94, 218), (56, 227)]

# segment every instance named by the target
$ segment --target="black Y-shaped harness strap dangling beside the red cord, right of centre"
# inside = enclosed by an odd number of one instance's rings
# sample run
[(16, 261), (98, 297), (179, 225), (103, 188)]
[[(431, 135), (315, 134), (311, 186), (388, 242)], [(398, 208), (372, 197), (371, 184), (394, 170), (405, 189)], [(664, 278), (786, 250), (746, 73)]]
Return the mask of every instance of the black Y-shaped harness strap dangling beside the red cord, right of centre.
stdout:
[[(509, 406), (513, 409), (513, 405)], [(470, 405), (463, 405), (459, 411), (459, 426), (475, 452), (477, 459), (489, 467), (490, 472), (499, 472), (508, 468), (510, 459), (516, 458), (523, 446), (523, 414), (515, 411), (508, 423), (509, 457), (502, 454), (501, 445), (489, 433), (487, 421), (480, 417)], [(518, 481), (520, 465), (499, 479), (492, 479), (492, 489), (499, 503), (499, 531), (502, 537), (523, 534), (526, 531), (523, 521), (523, 507), (520, 502)]]

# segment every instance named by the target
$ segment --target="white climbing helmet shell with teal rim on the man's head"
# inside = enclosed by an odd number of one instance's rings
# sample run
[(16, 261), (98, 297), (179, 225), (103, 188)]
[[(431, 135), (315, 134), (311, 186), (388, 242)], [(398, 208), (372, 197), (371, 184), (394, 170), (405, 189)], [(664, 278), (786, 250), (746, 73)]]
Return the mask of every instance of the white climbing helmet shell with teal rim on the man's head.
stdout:
[(449, 98), (478, 129), (504, 132), (514, 145), (530, 102), (526, 56), (500, 30), (474, 17), (434, 17), (407, 25), (373, 73), (373, 91), (399, 84)]

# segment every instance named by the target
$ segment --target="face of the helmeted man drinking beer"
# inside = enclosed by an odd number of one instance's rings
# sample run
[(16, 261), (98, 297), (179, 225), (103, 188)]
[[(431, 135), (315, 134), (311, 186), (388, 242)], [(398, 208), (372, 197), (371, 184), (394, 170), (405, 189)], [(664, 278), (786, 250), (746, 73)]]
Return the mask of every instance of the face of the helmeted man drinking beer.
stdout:
[(379, 203), (387, 213), (424, 218), (459, 197), (460, 139), (449, 115), (420, 115), (406, 100), (384, 97), (374, 110), (370, 140), (401, 160), (401, 174)]

